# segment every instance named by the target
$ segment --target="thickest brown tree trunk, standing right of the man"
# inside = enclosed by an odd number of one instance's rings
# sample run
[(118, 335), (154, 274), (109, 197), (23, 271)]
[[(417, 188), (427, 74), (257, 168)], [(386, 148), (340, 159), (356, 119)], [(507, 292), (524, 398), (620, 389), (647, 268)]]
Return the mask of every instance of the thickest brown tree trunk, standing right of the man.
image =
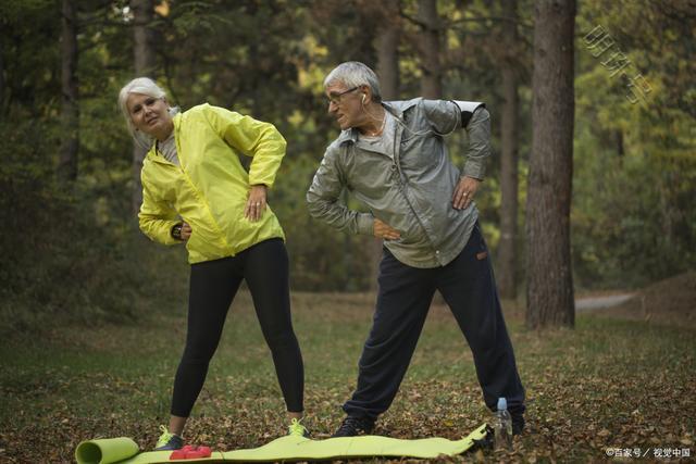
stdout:
[(534, 16), (526, 325), (573, 327), (570, 203), (575, 1), (537, 0)]

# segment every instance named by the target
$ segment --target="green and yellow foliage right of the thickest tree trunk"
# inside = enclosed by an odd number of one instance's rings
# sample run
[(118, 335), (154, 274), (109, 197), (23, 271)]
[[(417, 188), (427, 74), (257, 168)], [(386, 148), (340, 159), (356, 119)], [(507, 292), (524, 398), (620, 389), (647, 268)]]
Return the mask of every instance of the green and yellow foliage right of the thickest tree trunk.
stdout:
[[(595, 58), (584, 37), (597, 26), (614, 43)], [(572, 226), (582, 286), (638, 286), (696, 266), (696, 134), (680, 97), (692, 84), (672, 73), (693, 66), (685, 28), (635, 2), (588, 4), (579, 17)], [(613, 73), (617, 52), (630, 64)], [(638, 74), (642, 93), (627, 87)]]

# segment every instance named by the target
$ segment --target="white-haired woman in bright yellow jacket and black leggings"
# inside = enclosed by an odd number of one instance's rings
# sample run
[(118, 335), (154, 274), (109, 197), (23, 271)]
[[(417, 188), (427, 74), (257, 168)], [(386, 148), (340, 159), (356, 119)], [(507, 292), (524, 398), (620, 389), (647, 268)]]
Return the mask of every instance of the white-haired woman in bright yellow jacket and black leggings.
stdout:
[[(128, 83), (119, 105), (134, 139), (147, 145), (140, 229), (164, 244), (186, 243), (190, 263), (186, 348), (174, 378), (169, 428), (156, 450), (184, 444), (182, 432), (203, 386), (227, 310), (246, 280), (271, 349), (290, 435), (300, 424), (303, 367), (290, 319), (288, 258), (266, 189), (285, 154), (269, 123), (210, 104), (172, 109), (151, 79)], [(237, 153), (251, 156), (249, 173)]]

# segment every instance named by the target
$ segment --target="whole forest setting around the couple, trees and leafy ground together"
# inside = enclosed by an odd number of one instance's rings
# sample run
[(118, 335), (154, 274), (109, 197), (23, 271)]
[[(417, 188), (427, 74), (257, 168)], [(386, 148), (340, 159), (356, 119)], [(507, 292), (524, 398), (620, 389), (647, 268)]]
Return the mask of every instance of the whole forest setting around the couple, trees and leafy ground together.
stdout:
[[(116, 97), (142, 75), (183, 110), (207, 101), (287, 139), (269, 199), (290, 254), (306, 424), (331, 436), (381, 248), (306, 208), (338, 135), (322, 81), (347, 60), (375, 68), (386, 99), (492, 114), (476, 204), (527, 405), (525, 434), (493, 459), (696, 455), (695, 28), (691, 0), (0, 1), (0, 462), (74, 462), (96, 437), (149, 450), (167, 421), (188, 265), (137, 226), (144, 153)], [(464, 131), (448, 147), (461, 166)], [(635, 297), (575, 317), (576, 297), (619, 291)], [(186, 430), (216, 450), (287, 432), (248, 291), (232, 313)], [(375, 432), (460, 439), (489, 419), (436, 298)]]

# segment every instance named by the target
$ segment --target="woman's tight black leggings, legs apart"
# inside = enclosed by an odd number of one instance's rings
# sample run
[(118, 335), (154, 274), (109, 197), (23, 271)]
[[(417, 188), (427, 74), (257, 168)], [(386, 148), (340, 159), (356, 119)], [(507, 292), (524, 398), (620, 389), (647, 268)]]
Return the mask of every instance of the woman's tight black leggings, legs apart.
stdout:
[(304, 372), (290, 319), (288, 258), (283, 240), (271, 239), (234, 258), (191, 265), (188, 333), (174, 378), (172, 415), (189, 416), (241, 279), (251, 291), (287, 410), (302, 412)]

